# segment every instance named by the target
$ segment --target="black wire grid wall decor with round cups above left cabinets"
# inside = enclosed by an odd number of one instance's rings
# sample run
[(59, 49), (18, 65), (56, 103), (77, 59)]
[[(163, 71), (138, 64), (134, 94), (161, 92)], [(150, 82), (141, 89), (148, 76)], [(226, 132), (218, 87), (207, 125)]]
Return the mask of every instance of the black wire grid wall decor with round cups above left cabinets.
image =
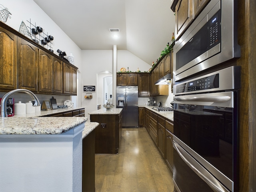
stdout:
[(32, 34), (32, 40), (36, 43), (41, 43), (42, 46), (47, 46), (47, 49), (51, 52), (54, 52), (52, 50), (52, 40), (54, 39), (53, 36), (51, 35), (48, 35), (48, 32), (45, 33), (44, 32), (44, 29), (40, 26), (36, 26), (36, 23), (35, 24), (32, 24), (31, 23), (31, 19), (27, 22), (30, 24), (30, 31), (31, 31), (31, 34)]

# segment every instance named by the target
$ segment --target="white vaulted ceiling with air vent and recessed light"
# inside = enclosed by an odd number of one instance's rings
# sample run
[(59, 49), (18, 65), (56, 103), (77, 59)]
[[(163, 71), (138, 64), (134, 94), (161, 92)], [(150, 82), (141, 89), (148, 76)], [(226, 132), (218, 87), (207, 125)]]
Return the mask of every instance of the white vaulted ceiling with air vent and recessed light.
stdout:
[[(34, 0), (82, 49), (128, 50), (156, 62), (172, 38), (170, 0)], [(118, 38), (110, 28), (119, 29)]]

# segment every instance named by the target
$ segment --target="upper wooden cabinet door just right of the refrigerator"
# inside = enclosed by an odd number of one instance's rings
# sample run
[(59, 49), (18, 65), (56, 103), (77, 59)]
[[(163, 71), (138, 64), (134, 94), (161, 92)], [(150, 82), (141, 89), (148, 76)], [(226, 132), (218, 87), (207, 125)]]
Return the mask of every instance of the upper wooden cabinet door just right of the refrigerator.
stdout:
[(138, 74), (138, 96), (150, 96), (149, 74)]

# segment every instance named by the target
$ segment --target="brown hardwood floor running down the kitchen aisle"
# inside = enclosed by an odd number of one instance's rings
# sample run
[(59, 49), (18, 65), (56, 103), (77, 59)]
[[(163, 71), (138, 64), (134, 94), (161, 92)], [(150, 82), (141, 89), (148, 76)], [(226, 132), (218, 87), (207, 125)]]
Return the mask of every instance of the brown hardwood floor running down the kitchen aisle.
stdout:
[(123, 128), (118, 155), (95, 156), (96, 192), (173, 192), (172, 174), (145, 128)]

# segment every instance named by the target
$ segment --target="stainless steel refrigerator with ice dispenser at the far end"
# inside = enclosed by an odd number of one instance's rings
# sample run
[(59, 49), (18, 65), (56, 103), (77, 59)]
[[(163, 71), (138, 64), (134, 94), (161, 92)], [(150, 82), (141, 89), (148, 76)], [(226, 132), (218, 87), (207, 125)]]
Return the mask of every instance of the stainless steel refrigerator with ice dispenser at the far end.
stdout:
[(138, 86), (116, 86), (116, 108), (122, 108), (122, 127), (138, 127)]

